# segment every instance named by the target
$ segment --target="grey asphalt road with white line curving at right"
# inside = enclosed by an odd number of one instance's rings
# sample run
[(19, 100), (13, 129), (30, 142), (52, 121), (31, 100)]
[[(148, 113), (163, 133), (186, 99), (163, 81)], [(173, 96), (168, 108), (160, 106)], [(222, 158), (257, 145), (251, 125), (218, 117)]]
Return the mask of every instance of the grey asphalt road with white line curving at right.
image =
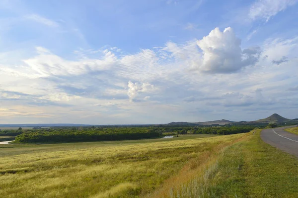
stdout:
[(283, 131), (285, 128), (291, 127), (264, 129), (261, 132), (261, 138), (271, 146), (298, 157), (298, 135)]

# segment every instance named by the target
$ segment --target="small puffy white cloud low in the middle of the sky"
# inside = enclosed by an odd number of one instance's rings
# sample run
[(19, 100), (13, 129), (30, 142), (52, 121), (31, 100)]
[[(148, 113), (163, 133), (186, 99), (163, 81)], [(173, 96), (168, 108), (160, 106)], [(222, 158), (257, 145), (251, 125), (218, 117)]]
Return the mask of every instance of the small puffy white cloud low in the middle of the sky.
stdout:
[[(154, 86), (150, 85), (149, 83), (132, 83), (131, 81), (128, 82), (128, 91), (127, 95), (129, 96), (130, 101), (136, 99), (140, 92), (149, 93), (154, 90)], [(145, 97), (145, 99), (149, 99), (149, 97)]]

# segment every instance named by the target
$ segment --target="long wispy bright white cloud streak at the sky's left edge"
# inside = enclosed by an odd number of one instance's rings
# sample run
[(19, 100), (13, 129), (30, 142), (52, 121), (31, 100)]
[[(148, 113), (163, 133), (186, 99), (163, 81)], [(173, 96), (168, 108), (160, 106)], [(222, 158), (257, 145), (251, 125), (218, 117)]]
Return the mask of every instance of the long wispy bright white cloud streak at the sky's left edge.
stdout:
[(86, 59), (81, 61), (68, 61), (52, 54), (49, 50), (36, 47), (37, 56), (23, 60), (25, 65), (12, 69), (0, 68), (0, 73), (29, 78), (81, 75), (90, 71), (108, 70), (115, 65), (117, 58), (110, 51), (106, 51), (102, 59)]

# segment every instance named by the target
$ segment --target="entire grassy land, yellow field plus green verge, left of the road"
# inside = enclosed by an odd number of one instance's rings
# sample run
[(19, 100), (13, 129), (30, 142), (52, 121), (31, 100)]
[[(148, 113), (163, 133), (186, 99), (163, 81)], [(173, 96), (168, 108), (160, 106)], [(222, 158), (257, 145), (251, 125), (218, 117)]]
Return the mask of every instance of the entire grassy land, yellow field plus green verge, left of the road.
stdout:
[(216, 137), (0, 145), (0, 195), (298, 197), (298, 158), (264, 143), (260, 131)]

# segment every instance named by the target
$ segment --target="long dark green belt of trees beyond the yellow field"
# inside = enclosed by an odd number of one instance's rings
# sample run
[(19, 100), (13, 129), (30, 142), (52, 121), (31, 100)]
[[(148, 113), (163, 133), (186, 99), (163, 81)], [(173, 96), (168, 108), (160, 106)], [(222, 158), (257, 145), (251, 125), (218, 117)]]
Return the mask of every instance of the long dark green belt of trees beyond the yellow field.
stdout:
[[(63, 127), (15, 131), (15, 143), (60, 143), (159, 138), (169, 134), (228, 135), (249, 132), (253, 126), (217, 127)], [(8, 133), (6, 133), (8, 134)], [(12, 134), (12, 133), (10, 133)]]

